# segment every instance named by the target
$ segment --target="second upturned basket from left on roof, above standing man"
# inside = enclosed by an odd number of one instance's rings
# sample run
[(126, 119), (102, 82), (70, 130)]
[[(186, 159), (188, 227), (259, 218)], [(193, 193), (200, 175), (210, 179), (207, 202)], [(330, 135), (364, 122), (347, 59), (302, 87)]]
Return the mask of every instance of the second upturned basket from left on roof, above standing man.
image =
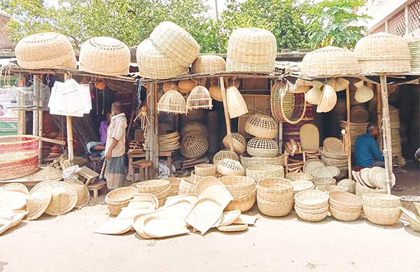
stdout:
[(106, 76), (125, 76), (130, 73), (130, 48), (111, 37), (94, 37), (80, 48), (79, 69)]

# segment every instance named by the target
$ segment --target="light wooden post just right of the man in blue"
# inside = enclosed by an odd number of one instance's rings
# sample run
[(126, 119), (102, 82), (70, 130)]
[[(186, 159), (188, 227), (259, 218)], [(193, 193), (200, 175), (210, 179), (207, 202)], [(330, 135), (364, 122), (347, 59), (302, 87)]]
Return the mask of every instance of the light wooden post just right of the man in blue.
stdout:
[(392, 144), (391, 144), (391, 124), (389, 121), (388, 107), (388, 87), (386, 86), (386, 76), (381, 75), (381, 97), (382, 97), (382, 138), (384, 143), (384, 159), (386, 169), (386, 188), (391, 194), (392, 178)]

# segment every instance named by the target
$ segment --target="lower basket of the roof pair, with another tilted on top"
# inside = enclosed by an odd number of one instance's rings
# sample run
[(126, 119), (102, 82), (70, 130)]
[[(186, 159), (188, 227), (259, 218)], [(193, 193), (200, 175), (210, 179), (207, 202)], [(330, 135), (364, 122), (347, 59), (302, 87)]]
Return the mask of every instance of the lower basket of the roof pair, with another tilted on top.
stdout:
[(150, 38), (137, 47), (137, 65), (144, 78), (167, 79), (188, 73), (188, 68), (170, 59)]

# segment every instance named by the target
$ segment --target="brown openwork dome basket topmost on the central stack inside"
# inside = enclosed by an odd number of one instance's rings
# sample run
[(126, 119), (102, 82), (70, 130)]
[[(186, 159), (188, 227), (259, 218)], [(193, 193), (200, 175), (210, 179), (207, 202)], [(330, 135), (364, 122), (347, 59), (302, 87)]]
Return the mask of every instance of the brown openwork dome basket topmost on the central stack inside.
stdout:
[(272, 139), (277, 136), (278, 124), (272, 117), (256, 113), (246, 120), (245, 131), (258, 138)]

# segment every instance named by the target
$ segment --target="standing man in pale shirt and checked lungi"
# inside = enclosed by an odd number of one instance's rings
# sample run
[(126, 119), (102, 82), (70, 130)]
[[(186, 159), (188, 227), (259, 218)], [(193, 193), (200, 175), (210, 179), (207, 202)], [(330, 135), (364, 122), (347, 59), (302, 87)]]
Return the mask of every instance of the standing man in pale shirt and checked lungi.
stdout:
[(109, 190), (123, 186), (125, 180), (125, 118), (123, 103), (115, 101), (111, 106), (111, 121), (106, 134), (106, 185)]

